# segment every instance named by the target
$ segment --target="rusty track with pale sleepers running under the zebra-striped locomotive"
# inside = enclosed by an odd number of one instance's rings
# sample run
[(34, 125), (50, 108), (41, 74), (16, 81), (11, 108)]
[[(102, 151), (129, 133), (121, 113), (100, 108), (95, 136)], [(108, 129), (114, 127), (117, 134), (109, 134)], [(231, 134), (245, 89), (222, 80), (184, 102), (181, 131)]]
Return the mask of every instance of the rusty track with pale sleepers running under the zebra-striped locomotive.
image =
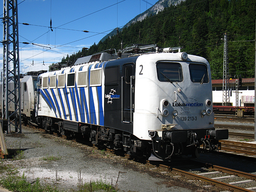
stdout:
[[(41, 131), (42, 130), (40, 129)], [(60, 136), (57, 133), (53, 133), (55, 136)], [(76, 140), (79, 142), (80, 140)], [(222, 143), (226, 142), (224, 140), (221, 140)], [(84, 142), (83, 142), (84, 144)], [(239, 143), (240, 144), (240, 143)], [(239, 146), (237, 144), (237, 146)], [(226, 145), (228, 143), (226, 142)], [(256, 146), (256, 145), (255, 145)], [(250, 147), (255, 147), (254, 145), (251, 145)], [(92, 145), (93, 148), (98, 148), (97, 146)], [(245, 148), (245, 147), (244, 147)], [(223, 149), (223, 147), (222, 147)], [(119, 152), (116, 152), (115, 150), (108, 150), (109, 152), (115, 153), (121, 156), (125, 156), (130, 159), (134, 159), (134, 157), (127, 155), (127, 154), (119, 154)], [(180, 176), (185, 176), (187, 178), (193, 179), (193, 180), (201, 180), (204, 182), (209, 183), (209, 186), (218, 186), (220, 188), (226, 189), (228, 191), (234, 191), (234, 192), (252, 192), (252, 190), (256, 189), (256, 175), (246, 172), (241, 172), (233, 169), (228, 169), (225, 167), (213, 165), (213, 164), (207, 164), (203, 162), (193, 161), (193, 160), (186, 160), (186, 164), (180, 163), (182, 161), (177, 161), (177, 163), (170, 163), (170, 162), (161, 162), (158, 163), (156, 161), (148, 161), (148, 160), (135, 160), (137, 162), (147, 163), (154, 165), (160, 169), (163, 169), (167, 172), (176, 173)], [(191, 168), (190, 164), (193, 165), (193, 169), (186, 169), (187, 167)], [(184, 167), (185, 169), (178, 169), (177, 167)], [(199, 166), (199, 167), (198, 167)], [(196, 167), (196, 168), (195, 168)], [(161, 172), (164, 173), (164, 172)], [(229, 182), (228, 179), (232, 178), (233, 182)], [(234, 181), (234, 178), (236, 178), (237, 181)], [(237, 186), (238, 185), (238, 186)], [(241, 187), (241, 186), (245, 187)]]

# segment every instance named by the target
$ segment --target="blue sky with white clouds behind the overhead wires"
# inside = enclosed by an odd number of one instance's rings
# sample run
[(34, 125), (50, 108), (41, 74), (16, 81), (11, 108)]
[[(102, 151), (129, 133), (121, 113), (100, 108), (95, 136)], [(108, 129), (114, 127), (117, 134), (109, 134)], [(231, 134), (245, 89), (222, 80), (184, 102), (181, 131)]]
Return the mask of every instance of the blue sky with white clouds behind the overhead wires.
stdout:
[[(20, 73), (48, 70), (50, 64), (60, 62), (63, 56), (89, 48), (94, 42), (97, 44), (107, 33), (124, 26), (157, 0), (147, 2), (149, 4), (143, 0), (18, 0)], [(3, 10), (3, 1), (1, 7)], [(48, 32), (51, 18), (53, 31)], [(0, 26), (3, 31), (3, 24)], [(3, 33), (0, 34), (3, 39)], [(0, 49), (2, 69), (3, 46)]]

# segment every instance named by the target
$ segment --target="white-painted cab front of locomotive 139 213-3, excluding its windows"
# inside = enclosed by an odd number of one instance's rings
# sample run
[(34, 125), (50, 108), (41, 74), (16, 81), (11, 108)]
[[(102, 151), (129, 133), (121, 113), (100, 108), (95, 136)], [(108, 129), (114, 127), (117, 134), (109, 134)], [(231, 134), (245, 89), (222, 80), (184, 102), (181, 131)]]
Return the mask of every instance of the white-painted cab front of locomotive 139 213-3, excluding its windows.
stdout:
[[(162, 131), (163, 124), (177, 124), (172, 130), (214, 127), (213, 113), (202, 118), (202, 110), (207, 109), (205, 101), (207, 99), (212, 101), (211, 81), (207, 84), (193, 83), (190, 80), (188, 68), (191, 61), (194, 61), (192, 63), (206, 64), (209, 78), (211, 79), (209, 63), (204, 58), (193, 55), (188, 55), (188, 60), (182, 61), (179, 54), (181, 53), (155, 53), (142, 55), (137, 59), (133, 134), (140, 139), (151, 140), (148, 136), (148, 131)], [(177, 84), (176, 82), (172, 84), (170, 82), (160, 82), (156, 72), (156, 63), (158, 61), (180, 63), (183, 71), (183, 81)], [(141, 65), (143, 66), (142, 71)], [(180, 92), (178, 89), (180, 89)], [(177, 93), (177, 100), (175, 92)], [(169, 105), (165, 107), (169, 110), (169, 115), (166, 117), (162, 116), (160, 111), (160, 102), (163, 99), (169, 101)], [(203, 103), (203, 106), (175, 106), (175, 104), (179, 103)], [(212, 106), (210, 108), (212, 110)], [(175, 118), (172, 118), (173, 110), (178, 111), (178, 116)], [(182, 116), (187, 117), (187, 119), (191, 118), (191, 121), (181, 121)], [(192, 117), (194, 120), (192, 120)]]

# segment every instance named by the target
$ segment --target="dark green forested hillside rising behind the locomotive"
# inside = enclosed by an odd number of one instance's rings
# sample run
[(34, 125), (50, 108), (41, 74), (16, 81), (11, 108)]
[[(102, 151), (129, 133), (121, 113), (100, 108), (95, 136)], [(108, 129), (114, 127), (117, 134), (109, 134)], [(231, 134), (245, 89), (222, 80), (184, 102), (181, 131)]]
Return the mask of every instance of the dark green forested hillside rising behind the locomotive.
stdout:
[[(107, 49), (128, 44), (158, 44), (159, 47), (184, 46), (182, 52), (206, 58), (212, 79), (223, 77), (224, 33), (228, 35), (229, 74), (254, 77), (255, 0), (186, 0), (149, 16), (119, 32), (119, 36), (92, 45), (62, 62), (75, 61)], [(139, 36), (140, 35), (140, 36)]]

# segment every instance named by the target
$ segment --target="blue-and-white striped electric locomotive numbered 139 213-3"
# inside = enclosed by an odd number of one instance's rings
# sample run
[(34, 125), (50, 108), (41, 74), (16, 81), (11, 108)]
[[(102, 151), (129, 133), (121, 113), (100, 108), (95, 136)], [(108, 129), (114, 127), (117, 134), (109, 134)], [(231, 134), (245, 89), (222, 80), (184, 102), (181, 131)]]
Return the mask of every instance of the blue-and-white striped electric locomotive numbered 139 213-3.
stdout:
[(228, 130), (214, 129), (210, 65), (176, 50), (132, 44), (40, 74), (36, 122), (151, 159), (218, 149)]

